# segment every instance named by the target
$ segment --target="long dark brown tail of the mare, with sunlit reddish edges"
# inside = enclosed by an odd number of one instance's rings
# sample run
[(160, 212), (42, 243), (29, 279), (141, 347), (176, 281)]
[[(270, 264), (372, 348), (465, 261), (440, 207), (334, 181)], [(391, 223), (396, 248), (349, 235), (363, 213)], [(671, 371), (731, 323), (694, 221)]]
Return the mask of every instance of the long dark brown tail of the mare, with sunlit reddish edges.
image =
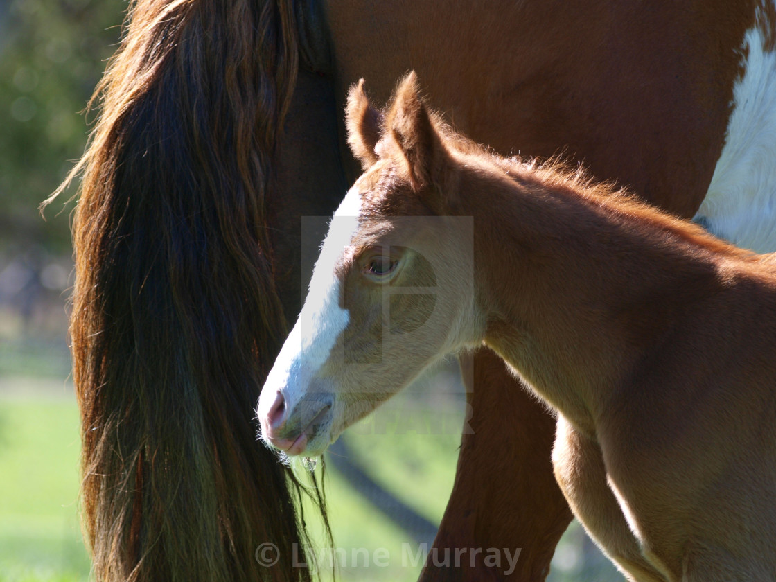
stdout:
[(302, 486), (251, 417), (286, 331), (264, 197), (298, 51), (292, 0), (138, 0), (92, 98), (61, 189), (81, 176), (70, 331), (97, 580), (310, 579)]

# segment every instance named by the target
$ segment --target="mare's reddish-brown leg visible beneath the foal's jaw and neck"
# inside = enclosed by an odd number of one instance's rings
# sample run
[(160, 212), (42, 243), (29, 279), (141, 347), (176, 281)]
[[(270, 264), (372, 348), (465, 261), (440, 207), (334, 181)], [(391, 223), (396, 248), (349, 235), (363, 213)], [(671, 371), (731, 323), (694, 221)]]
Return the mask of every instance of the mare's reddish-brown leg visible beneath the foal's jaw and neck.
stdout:
[[(473, 383), (467, 386), (472, 434), (462, 436), (456, 481), (434, 546), (482, 552), (473, 567), (470, 559), (459, 568), (429, 563), (421, 580), (539, 582), (572, 517), (550, 462), (555, 420), (490, 350), (462, 358), (462, 368), (465, 381)], [(500, 550), (500, 566), (484, 565), (488, 548)], [(505, 548), (513, 559), (520, 549), (514, 570)]]

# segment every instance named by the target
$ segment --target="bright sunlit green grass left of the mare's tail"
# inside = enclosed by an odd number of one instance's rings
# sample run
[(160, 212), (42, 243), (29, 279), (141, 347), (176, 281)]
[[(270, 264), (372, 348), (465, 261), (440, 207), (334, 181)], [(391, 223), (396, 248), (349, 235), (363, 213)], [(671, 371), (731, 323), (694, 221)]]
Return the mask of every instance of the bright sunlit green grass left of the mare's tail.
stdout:
[(0, 580), (85, 580), (78, 409), (62, 382), (0, 382)]

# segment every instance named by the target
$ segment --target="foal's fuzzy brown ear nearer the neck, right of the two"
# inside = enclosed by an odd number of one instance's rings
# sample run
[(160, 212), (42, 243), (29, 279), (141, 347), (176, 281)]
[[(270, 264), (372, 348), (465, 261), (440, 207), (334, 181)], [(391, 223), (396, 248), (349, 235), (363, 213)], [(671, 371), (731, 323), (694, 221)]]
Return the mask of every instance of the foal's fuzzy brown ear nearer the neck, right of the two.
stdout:
[(414, 189), (435, 182), (444, 160), (444, 147), (421, 97), (415, 71), (407, 74), (394, 93), (385, 127), (386, 137), (407, 162)]

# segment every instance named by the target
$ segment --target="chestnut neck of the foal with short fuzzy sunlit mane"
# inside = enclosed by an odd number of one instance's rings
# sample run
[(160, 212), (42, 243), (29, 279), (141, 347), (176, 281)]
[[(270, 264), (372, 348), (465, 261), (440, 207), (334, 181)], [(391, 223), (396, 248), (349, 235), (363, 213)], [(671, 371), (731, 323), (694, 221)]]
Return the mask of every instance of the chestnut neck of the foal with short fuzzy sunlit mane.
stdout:
[[(501, 162), (503, 163), (503, 161)], [(515, 164), (462, 168), (485, 341), (580, 428), (692, 304), (726, 244), (602, 186)]]

